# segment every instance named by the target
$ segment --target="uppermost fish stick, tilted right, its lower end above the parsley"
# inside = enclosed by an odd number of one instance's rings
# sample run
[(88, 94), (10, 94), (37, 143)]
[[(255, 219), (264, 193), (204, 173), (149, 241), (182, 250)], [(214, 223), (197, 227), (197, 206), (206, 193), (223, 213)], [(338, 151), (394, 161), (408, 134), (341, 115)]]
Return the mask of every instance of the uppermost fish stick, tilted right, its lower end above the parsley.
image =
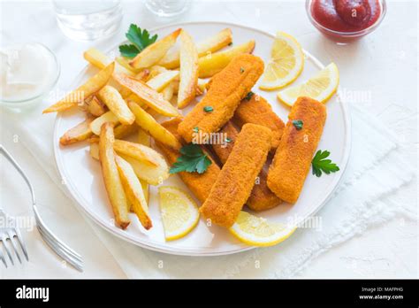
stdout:
[(248, 54), (233, 58), (225, 69), (212, 77), (207, 95), (179, 124), (179, 134), (191, 142), (197, 131), (203, 134), (217, 132), (232, 118), (240, 100), (248, 94), (262, 73), (261, 58)]

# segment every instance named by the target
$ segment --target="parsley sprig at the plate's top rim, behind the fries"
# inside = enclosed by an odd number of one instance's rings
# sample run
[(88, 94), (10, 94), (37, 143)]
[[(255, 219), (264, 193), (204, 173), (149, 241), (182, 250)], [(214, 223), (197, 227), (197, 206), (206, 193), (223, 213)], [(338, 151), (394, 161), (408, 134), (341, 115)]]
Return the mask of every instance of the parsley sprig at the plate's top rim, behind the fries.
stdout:
[(149, 31), (146, 29), (141, 30), (141, 27), (131, 24), (126, 33), (126, 38), (133, 44), (119, 46), (119, 52), (123, 57), (133, 58), (147, 46), (156, 42), (157, 35), (150, 37)]

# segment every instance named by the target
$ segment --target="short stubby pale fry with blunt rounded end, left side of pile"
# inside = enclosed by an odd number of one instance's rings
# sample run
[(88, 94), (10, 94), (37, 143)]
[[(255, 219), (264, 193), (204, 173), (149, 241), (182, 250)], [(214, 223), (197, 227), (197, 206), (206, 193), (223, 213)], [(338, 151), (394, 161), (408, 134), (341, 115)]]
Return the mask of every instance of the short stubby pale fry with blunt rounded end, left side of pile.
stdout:
[(108, 106), (110, 111), (117, 116), (122, 124), (133, 124), (135, 116), (117, 89), (111, 86), (104, 86), (97, 95)]

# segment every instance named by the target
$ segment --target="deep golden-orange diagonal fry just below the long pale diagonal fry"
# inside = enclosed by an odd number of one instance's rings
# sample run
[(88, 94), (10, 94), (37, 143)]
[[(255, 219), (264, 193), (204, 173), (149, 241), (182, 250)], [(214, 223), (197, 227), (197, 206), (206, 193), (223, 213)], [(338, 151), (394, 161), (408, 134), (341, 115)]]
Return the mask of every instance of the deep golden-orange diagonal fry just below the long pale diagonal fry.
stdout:
[(180, 149), (182, 145), (178, 139), (166, 128), (162, 127), (148, 112), (145, 112), (138, 104), (128, 103), (128, 106), (135, 115), (135, 122), (139, 127), (144, 129), (159, 142), (167, 144), (173, 149)]

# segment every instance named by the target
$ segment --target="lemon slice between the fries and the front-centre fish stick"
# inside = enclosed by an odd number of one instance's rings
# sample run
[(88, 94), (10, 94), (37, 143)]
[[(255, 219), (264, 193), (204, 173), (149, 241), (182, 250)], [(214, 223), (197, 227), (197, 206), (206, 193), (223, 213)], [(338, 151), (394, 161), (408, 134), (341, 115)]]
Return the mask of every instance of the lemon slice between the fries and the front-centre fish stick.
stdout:
[(171, 186), (158, 189), (166, 241), (187, 235), (198, 223), (198, 206), (187, 193)]

